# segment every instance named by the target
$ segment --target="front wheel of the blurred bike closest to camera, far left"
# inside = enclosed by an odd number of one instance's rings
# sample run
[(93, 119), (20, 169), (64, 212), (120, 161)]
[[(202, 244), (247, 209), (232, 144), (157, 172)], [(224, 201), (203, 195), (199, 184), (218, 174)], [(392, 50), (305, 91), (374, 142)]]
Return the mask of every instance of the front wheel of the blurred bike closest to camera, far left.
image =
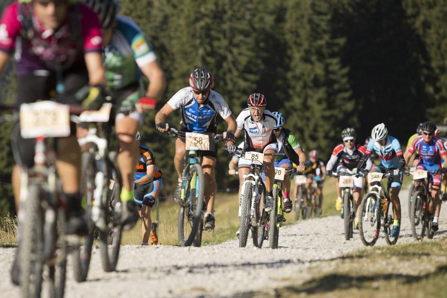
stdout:
[(38, 184), (28, 187), (21, 223), (22, 239), (18, 261), (20, 264), (20, 290), (23, 297), (40, 297), (42, 291), (42, 267), (44, 262), (43, 215), (40, 198), (43, 195)]

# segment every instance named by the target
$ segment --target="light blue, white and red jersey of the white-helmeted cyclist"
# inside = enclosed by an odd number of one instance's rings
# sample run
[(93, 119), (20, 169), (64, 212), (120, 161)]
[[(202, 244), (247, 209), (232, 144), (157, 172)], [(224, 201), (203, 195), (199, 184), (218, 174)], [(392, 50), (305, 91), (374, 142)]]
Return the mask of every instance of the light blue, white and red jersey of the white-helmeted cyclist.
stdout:
[(399, 141), (391, 136), (388, 136), (384, 146), (381, 146), (376, 141), (372, 141), (368, 143), (365, 154), (369, 155), (374, 150), (380, 158), (381, 165), (387, 169), (397, 169), (399, 167), (399, 158), (397, 156), (403, 155)]

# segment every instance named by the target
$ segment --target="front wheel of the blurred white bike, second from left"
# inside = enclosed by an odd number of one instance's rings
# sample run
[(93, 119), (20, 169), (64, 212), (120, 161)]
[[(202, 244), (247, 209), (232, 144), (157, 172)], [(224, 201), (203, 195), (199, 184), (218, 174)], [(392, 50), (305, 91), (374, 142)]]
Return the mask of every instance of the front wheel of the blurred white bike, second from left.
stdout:
[(88, 233), (83, 237), (78, 237), (73, 243), (72, 262), (74, 270), (74, 279), (77, 282), (84, 282), (87, 279), (90, 266), (91, 250), (94, 240), (95, 224), (91, 219), (93, 191), (95, 189), (95, 160), (90, 152), (82, 153), (81, 164), (81, 184), (80, 191), (82, 200), (85, 200), (85, 216), (88, 226)]

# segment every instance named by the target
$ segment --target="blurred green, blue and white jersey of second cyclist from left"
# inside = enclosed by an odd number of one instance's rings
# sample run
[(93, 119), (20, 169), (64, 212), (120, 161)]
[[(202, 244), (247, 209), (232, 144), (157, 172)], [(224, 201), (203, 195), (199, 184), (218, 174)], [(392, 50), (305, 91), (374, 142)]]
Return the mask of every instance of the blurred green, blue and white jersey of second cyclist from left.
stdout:
[(133, 20), (117, 16), (116, 21), (110, 44), (104, 48), (107, 87), (115, 90), (138, 82), (140, 67), (156, 60), (148, 38)]

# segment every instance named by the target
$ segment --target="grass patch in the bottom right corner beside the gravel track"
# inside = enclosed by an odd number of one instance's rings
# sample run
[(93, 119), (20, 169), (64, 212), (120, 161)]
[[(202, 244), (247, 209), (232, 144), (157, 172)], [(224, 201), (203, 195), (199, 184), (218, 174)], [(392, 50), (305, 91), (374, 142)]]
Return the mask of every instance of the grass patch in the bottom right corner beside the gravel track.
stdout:
[[(447, 297), (447, 238), (363, 249), (310, 267), (314, 277), (275, 297)], [(297, 285), (294, 285), (297, 284)], [(272, 294), (258, 294), (272, 297)]]

